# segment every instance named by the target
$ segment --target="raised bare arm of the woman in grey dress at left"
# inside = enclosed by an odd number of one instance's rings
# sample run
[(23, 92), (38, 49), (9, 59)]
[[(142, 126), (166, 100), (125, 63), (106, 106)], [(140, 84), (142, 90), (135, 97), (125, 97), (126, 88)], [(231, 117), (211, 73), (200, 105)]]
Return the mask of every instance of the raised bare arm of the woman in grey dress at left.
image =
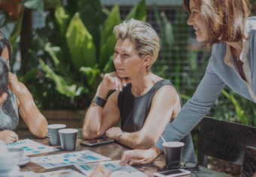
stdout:
[(29, 130), (39, 138), (46, 137), (48, 134), (47, 119), (36, 107), (31, 93), (23, 83), (18, 81), (17, 76), (11, 72), (9, 72), (9, 80), (8, 88), (17, 96), (20, 116), (23, 117)]

